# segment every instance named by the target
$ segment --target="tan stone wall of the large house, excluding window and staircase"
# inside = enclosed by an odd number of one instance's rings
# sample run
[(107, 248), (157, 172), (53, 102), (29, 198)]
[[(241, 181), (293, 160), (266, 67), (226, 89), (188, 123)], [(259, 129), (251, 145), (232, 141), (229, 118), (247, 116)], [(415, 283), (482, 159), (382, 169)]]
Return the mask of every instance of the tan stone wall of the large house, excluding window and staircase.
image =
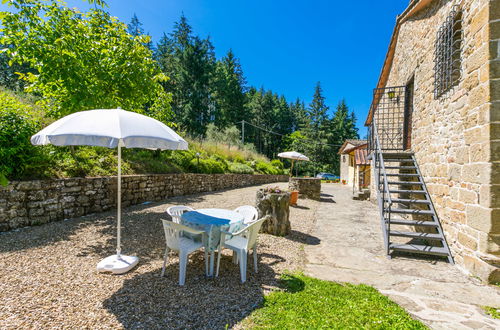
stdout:
[(414, 77), (412, 150), (456, 263), (500, 281), (500, 0), (463, 0), (462, 76), (433, 96), (437, 29), (459, 1), (402, 23), (386, 87)]

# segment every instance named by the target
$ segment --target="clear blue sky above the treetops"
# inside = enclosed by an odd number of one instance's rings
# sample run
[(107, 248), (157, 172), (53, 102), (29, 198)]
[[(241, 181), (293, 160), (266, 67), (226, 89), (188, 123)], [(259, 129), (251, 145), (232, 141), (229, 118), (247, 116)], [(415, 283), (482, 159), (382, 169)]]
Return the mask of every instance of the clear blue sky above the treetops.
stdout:
[[(248, 84), (289, 101), (311, 101), (321, 81), (327, 104), (342, 98), (358, 118), (361, 137), (394, 28), (408, 0), (106, 0), (128, 23), (135, 13), (156, 43), (182, 13), (194, 33), (210, 36), (218, 58), (232, 48)], [(68, 1), (81, 9), (83, 1)], [(5, 8), (4, 5), (1, 8)]]

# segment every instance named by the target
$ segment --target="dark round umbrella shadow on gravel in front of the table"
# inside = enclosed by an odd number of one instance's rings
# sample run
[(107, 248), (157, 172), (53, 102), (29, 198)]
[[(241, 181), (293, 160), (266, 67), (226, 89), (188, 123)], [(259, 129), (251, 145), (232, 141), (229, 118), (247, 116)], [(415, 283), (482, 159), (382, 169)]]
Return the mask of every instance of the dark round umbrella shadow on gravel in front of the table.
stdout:
[(257, 274), (249, 259), (247, 282), (241, 283), (239, 267), (229, 255), (221, 259), (219, 277), (206, 279), (203, 253), (196, 252), (190, 257), (186, 284), (180, 287), (178, 259), (174, 257), (165, 277), (160, 277), (161, 268), (138, 274), (126, 280), (103, 307), (125, 329), (231, 328), (259, 307), (263, 286), (277, 285), (269, 258), (273, 255), (259, 255)]

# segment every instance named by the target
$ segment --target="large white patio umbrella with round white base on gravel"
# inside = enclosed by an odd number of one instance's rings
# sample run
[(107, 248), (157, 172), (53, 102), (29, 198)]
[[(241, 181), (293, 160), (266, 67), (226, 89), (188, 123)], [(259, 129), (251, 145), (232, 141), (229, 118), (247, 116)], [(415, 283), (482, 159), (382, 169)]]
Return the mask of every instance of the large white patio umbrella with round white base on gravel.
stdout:
[(162, 122), (122, 109), (73, 113), (33, 135), (31, 143), (118, 148), (116, 254), (101, 260), (97, 270), (122, 274), (137, 265), (137, 257), (121, 254), (121, 148), (185, 150), (188, 143)]

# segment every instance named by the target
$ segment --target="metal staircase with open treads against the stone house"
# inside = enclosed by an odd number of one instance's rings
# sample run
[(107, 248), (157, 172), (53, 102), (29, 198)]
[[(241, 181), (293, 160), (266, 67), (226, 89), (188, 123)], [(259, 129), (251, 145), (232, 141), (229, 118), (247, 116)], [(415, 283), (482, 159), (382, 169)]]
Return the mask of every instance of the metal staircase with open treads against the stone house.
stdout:
[[(375, 126), (375, 120), (373, 122)], [(412, 152), (381, 149), (372, 129), (372, 159), (385, 250), (447, 257), (453, 262), (441, 223)]]

